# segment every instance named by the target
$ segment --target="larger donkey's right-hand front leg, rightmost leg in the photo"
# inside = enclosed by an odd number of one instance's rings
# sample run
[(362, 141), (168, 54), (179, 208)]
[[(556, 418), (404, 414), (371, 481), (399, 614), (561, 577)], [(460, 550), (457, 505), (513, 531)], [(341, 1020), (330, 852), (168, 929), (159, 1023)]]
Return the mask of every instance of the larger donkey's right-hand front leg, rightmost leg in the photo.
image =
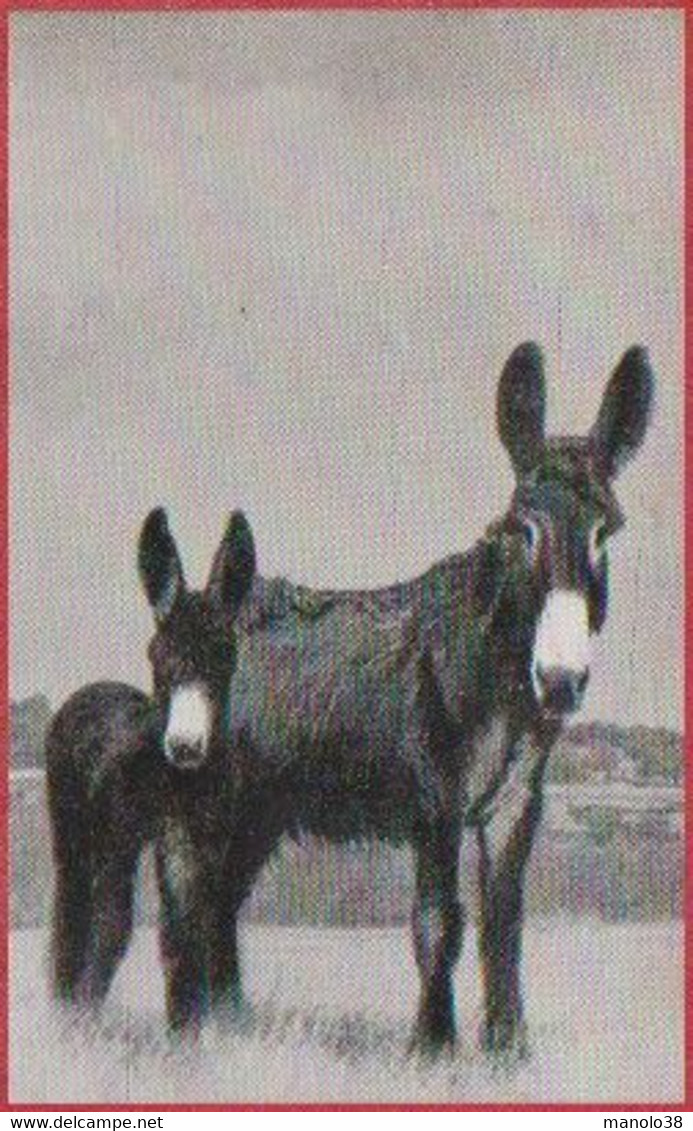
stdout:
[(540, 782), (500, 809), (478, 831), (479, 951), (487, 1052), (525, 1056), (527, 1033), (520, 987), (525, 869), (542, 811)]

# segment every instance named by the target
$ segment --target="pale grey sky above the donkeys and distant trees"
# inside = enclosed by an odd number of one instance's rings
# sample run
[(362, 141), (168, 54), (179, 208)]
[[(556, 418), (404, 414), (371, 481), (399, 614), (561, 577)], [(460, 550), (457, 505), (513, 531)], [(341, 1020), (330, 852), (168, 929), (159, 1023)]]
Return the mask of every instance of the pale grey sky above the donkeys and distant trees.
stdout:
[(11, 692), (148, 685), (136, 576), (243, 507), (263, 572), (413, 576), (512, 487), (497, 377), (546, 351), (582, 432), (623, 349), (584, 718), (682, 726), (683, 16), (10, 15)]

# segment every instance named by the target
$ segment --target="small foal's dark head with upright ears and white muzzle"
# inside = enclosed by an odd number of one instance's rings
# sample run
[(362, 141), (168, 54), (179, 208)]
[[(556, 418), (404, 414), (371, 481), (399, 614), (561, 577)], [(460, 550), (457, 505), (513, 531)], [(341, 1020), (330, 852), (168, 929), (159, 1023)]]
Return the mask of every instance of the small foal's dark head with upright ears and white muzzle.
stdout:
[(244, 515), (232, 515), (206, 588), (191, 590), (166, 512), (157, 508), (142, 526), (138, 566), (156, 624), (148, 656), (164, 752), (179, 769), (197, 769), (225, 733), (233, 621), (255, 571), (252, 532)]

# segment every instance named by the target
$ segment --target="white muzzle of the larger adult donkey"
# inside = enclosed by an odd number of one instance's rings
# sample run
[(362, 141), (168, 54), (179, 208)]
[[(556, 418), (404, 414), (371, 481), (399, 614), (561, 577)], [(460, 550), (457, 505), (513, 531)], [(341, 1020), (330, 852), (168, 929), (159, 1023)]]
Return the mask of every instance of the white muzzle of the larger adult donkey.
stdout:
[(547, 714), (571, 715), (582, 705), (590, 650), (587, 601), (572, 589), (554, 589), (539, 616), (531, 658), (534, 692)]

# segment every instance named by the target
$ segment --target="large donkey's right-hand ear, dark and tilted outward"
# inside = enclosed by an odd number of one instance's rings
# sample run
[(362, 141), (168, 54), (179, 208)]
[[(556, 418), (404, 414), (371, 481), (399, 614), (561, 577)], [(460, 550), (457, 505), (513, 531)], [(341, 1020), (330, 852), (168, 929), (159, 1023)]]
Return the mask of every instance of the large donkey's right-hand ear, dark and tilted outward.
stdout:
[(655, 374), (647, 349), (632, 346), (616, 369), (590, 432), (600, 470), (609, 478), (625, 467), (648, 430), (655, 399)]

